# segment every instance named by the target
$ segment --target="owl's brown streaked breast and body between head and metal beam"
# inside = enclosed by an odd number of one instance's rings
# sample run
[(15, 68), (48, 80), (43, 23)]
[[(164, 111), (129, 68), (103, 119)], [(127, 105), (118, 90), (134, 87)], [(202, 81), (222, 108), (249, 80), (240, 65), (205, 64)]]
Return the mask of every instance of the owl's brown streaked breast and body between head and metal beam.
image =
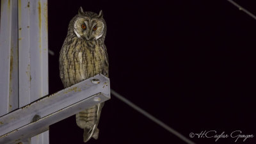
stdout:
[(96, 74), (108, 76), (108, 58), (104, 47), (97, 40), (88, 42), (80, 39), (72, 40), (68, 46), (63, 45), (60, 52), (60, 61), (63, 63), (60, 75), (65, 87)]

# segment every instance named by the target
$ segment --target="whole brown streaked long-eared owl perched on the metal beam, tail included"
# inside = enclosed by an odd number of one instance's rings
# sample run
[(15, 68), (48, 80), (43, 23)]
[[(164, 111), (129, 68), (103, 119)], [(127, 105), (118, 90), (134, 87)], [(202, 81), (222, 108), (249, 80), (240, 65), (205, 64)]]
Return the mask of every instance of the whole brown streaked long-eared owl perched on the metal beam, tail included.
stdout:
[[(84, 12), (80, 7), (78, 14), (70, 20), (59, 59), (60, 78), (65, 88), (97, 74), (108, 77), (106, 30), (102, 11), (99, 14)], [(76, 124), (84, 129), (84, 143), (90, 138), (97, 140), (103, 105), (102, 102), (76, 114)]]

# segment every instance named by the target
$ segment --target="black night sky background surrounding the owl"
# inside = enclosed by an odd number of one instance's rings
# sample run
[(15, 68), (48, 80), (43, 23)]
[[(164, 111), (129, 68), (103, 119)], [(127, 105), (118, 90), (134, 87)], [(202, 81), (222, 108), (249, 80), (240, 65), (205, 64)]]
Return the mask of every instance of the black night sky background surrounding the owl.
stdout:
[[(237, 0), (256, 14), (255, 1)], [(103, 10), (107, 23), (111, 88), (189, 138), (201, 131), (240, 130), (256, 135), (256, 20), (228, 1), (48, 1), (49, 91), (63, 89), (58, 57), (68, 22)], [(179, 143), (180, 140), (124, 102), (102, 109), (97, 143)], [(235, 143), (234, 138), (189, 138)], [(51, 144), (83, 143), (71, 116), (50, 127)], [(256, 143), (256, 137), (243, 142)]]

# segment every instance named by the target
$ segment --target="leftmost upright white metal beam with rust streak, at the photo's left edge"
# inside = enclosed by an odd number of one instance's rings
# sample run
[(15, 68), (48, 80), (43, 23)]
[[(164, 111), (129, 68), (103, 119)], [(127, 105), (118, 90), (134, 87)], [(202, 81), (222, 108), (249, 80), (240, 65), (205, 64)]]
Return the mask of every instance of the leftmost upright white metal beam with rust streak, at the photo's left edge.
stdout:
[(17, 1), (1, 1), (0, 116), (18, 108)]

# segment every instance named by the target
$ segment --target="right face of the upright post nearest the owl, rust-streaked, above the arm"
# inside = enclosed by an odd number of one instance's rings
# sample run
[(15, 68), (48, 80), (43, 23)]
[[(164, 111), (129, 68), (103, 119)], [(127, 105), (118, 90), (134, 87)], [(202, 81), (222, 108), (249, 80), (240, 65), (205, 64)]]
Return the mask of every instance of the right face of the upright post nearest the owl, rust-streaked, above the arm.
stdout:
[[(47, 0), (29, 1), (30, 102), (48, 95)], [(29, 103), (30, 103), (29, 102)]]

